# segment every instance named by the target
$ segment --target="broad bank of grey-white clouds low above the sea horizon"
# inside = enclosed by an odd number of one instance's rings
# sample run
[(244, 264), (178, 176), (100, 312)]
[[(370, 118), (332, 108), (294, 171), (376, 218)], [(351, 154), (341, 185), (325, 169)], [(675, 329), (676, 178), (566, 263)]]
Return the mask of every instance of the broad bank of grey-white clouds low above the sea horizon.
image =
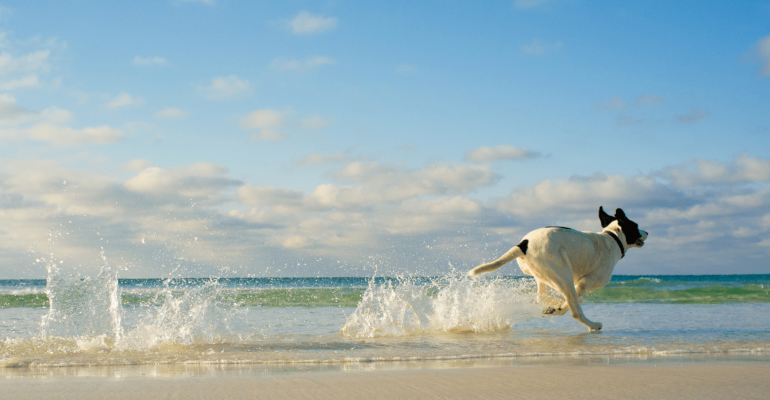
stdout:
[[(308, 163), (344, 157), (311, 156)], [(694, 160), (634, 176), (548, 179), (486, 201), (473, 193), (499, 179), (489, 164), (409, 168), (352, 161), (328, 167), (330, 181), (298, 190), (241, 182), (210, 163), (161, 168), (131, 160), (116, 172), (130, 176), (119, 179), (57, 161), (0, 161), (0, 260), (12, 261), (9, 254), (24, 254), (30, 243), (47, 245), (51, 227), (61, 223), (56, 252), (66, 253), (66, 260), (93, 258), (103, 246), (108, 256), (140, 264), (144, 276), (168, 273), (171, 268), (153, 269), (171, 264), (164, 260), (173, 260), (173, 268), (185, 262), (208, 268), (201, 271), (249, 265), (248, 273), (316, 260), (312, 267), (278, 272), (283, 276), (367, 275), (339, 269), (363, 260), (373, 260), (380, 273), (445, 272), (447, 261), (469, 268), (544, 225), (597, 231), (599, 205), (624, 208), (650, 232), (647, 246), (624, 259), (625, 273), (716, 273), (726, 260), (741, 272), (763, 271), (770, 251), (764, 239), (770, 234), (770, 160), (761, 157)]]

